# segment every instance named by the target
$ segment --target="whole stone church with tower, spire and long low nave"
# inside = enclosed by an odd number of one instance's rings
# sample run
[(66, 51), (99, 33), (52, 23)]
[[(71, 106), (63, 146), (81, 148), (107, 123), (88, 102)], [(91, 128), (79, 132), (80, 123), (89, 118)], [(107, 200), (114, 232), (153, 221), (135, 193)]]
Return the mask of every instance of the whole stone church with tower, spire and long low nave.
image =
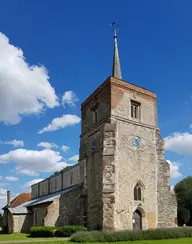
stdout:
[(122, 79), (114, 28), (112, 75), (81, 105), (79, 161), (6, 206), (9, 233), (32, 225), (120, 231), (177, 226), (156, 93)]

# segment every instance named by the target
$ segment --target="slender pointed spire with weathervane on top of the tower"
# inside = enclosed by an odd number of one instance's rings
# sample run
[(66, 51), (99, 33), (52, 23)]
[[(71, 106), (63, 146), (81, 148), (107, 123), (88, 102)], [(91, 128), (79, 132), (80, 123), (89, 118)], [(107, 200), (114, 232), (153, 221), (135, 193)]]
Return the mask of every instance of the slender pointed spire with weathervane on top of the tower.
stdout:
[(116, 22), (112, 23), (114, 28), (114, 53), (113, 53), (113, 70), (112, 76), (118, 79), (122, 79), (121, 75), (121, 66), (119, 60), (119, 52), (118, 52), (118, 45), (117, 45), (117, 30), (116, 30)]

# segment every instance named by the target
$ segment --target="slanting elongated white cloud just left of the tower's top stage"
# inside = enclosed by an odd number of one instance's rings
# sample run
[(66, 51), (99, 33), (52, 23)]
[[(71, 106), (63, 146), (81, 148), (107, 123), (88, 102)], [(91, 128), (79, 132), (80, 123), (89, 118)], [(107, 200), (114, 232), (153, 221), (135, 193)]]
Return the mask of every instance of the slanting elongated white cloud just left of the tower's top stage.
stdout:
[(77, 115), (64, 114), (60, 118), (53, 119), (48, 126), (44, 127), (38, 133), (42, 134), (46, 131), (55, 131), (55, 130), (63, 129), (67, 126), (72, 126), (72, 125), (78, 124), (80, 121), (81, 121), (81, 119)]

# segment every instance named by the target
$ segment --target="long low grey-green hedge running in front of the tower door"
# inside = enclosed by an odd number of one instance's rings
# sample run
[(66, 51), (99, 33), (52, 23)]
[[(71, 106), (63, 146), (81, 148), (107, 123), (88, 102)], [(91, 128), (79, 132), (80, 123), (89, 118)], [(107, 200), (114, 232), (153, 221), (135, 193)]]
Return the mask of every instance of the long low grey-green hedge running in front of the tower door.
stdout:
[(121, 232), (78, 232), (71, 236), (73, 242), (118, 242), (137, 240), (161, 240), (192, 237), (192, 228), (177, 227), (155, 230)]

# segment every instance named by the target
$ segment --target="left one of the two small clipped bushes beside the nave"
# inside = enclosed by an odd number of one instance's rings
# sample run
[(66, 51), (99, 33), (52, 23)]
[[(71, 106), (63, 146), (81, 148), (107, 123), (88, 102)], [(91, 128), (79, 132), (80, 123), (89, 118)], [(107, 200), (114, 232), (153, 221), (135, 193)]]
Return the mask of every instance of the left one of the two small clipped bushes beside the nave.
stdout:
[(33, 226), (29, 233), (31, 237), (54, 237), (56, 227), (54, 226)]

